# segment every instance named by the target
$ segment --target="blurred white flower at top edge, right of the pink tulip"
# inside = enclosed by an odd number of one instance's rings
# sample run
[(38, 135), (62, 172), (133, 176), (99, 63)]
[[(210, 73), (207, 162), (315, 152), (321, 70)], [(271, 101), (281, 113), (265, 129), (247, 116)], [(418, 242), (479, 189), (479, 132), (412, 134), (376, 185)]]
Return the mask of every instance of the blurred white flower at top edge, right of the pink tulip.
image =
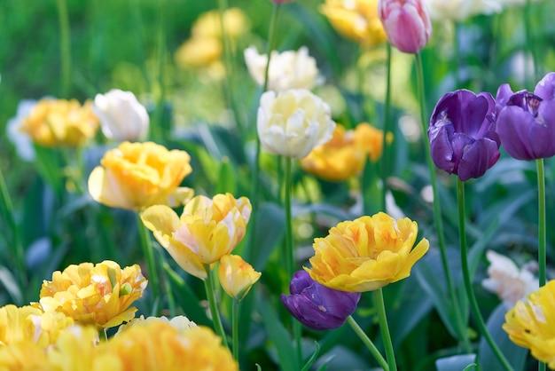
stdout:
[(465, 20), (477, 14), (503, 10), (498, 0), (425, 0), (432, 20)]

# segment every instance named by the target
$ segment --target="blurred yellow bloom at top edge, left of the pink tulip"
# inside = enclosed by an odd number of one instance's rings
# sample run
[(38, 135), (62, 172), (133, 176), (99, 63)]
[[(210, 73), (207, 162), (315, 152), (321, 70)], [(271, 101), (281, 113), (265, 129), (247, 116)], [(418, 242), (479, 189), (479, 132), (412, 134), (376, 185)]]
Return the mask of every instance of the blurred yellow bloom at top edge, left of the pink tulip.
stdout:
[(378, 0), (325, 0), (320, 12), (341, 36), (373, 46), (386, 41), (378, 18)]

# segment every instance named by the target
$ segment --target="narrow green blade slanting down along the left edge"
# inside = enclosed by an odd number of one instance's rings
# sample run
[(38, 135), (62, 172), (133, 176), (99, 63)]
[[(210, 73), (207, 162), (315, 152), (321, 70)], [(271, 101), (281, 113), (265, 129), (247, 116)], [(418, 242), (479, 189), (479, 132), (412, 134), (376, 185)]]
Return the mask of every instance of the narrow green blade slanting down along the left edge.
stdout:
[(23, 250), (23, 243), (21, 241), (20, 225), (16, 222), (15, 217), (13, 216), (12, 198), (8, 192), (8, 186), (6, 185), (2, 169), (0, 169), (0, 198), (2, 199), (1, 206), (4, 217), (10, 226), (10, 231), (12, 231), (12, 243), (10, 245), (13, 249), (12, 254), (18, 271), (17, 276), (20, 280), (20, 288), (24, 288), (27, 284), (25, 251)]

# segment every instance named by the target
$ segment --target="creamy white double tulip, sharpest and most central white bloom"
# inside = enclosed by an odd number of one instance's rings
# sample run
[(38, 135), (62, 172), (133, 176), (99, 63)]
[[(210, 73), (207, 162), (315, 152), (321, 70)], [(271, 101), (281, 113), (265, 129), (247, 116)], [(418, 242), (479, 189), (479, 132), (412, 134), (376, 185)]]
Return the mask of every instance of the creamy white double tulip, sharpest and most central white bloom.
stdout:
[(256, 129), (267, 152), (301, 159), (332, 138), (335, 122), (327, 103), (308, 90), (266, 91)]

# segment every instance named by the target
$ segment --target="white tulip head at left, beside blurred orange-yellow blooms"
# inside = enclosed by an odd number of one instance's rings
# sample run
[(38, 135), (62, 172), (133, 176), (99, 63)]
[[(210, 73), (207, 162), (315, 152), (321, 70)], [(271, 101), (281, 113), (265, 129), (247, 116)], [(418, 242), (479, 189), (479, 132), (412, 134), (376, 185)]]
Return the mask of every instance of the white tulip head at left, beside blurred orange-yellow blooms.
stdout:
[(113, 89), (97, 94), (92, 107), (106, 138), (134, 142), (145, 138), (150, 118), (131, 91)]

